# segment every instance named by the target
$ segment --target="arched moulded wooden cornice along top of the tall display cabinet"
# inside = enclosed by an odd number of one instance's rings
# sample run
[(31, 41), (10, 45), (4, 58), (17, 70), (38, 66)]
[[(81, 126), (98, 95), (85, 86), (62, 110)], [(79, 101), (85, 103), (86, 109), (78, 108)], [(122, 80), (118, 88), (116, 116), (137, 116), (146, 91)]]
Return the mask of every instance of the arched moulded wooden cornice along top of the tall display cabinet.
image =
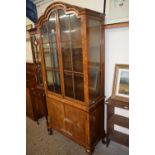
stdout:
[(74, 13), (77, 16), (77, 18), (80, 18), (80, 16), (83, 14), (96, 16), (100, 20), (103, 20), (103, 17), (104, 17), (103, 14), (89, 10), (89, 9), (77, 7), (77, 6), (63, 3), (63, 2), (53, 2), (53, 3), (51, 3), (51, 5), (49, 5), (46, 8), (44, 14), (38, 19), (38, 21), (36, 23), (36, 27), (40, 27), (44, 21), (48, 20), (50, 14), (51, 14), (51, 11), (55, 10), (55, 9), (62, 9), (62, 10), (64, 10), (65, 14)]

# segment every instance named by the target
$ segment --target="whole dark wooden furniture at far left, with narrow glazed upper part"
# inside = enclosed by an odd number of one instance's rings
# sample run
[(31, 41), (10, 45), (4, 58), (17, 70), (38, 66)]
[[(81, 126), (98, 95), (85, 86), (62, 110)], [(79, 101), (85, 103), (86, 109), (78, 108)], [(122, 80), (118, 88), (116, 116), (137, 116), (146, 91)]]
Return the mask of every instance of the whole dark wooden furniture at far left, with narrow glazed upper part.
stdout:
[(33, 63), (26, 63), (26, 114), (34, 121), (47, 117), (46, 97), (43, 87), (38, 33), (29, 30)]

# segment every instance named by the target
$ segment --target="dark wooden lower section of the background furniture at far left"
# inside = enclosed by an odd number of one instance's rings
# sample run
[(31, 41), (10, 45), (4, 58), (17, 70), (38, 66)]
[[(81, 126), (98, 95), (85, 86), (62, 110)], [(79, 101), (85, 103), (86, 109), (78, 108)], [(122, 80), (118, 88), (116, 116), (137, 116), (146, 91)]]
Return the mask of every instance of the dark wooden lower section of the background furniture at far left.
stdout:
[(39, 118), (47, 117), (44, 89), (37, 87), (33, 63), (26, 63), (26, 115), (37, 122)]

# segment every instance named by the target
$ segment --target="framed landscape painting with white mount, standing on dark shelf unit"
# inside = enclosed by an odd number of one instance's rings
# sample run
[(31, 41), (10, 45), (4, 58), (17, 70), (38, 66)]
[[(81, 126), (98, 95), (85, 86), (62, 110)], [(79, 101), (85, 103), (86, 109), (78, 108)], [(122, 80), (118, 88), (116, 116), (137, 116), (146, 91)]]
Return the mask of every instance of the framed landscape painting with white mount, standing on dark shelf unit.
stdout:
[(112, 98), (129, 101), (129, 65), (115, 65)]

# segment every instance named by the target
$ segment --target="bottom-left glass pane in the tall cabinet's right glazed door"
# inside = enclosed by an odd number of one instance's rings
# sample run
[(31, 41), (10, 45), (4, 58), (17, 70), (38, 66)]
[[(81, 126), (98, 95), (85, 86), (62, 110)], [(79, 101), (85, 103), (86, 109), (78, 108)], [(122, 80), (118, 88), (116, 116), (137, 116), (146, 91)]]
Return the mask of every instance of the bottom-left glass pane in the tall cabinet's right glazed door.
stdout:
[(72, 74), (64, 73), (65, 96), (74, 98)]

